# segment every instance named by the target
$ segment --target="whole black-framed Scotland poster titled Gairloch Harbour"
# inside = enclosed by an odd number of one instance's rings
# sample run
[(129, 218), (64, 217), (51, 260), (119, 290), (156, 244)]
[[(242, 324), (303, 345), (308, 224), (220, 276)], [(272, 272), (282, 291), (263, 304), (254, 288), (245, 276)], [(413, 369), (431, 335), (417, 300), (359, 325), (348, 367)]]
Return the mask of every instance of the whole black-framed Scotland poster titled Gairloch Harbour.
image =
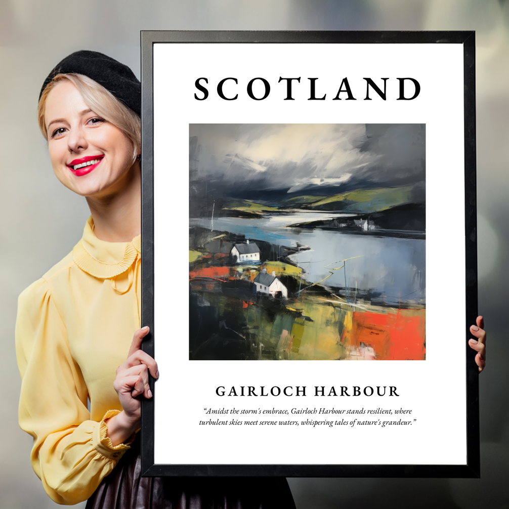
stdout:
[(142, 32), (146, 475), (479, 475), (474, 76), (471, 32)]

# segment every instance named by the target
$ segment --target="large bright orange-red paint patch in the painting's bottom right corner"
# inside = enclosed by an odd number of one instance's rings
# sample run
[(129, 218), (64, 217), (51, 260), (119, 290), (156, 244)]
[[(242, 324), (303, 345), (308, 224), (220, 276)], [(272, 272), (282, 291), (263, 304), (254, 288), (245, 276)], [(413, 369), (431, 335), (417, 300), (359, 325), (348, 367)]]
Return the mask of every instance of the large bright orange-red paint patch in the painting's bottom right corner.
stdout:
[(350, 344), (371, 346), (378, 360), (426, 358), (426, 310), (397, 313), (354, 312)]

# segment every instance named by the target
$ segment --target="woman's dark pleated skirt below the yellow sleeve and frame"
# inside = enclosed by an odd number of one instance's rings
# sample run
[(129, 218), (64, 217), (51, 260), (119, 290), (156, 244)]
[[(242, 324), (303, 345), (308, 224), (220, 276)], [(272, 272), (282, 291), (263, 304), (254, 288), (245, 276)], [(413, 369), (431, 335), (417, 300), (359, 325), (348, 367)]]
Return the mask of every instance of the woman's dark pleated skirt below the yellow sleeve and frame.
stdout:
[(295, 509), (285, 477), (142, 477), (139, 440), (86, 509)]

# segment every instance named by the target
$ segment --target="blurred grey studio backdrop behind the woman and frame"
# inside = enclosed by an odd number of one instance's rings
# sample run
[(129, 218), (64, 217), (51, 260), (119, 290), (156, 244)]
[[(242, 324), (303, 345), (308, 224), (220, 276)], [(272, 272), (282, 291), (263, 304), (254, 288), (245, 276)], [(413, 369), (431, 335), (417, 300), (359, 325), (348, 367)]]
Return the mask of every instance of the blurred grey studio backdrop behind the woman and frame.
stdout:
[(36, 122), (39, 89), (49, 70), (78, 49), (114, 56), (139, 76), (140, 30), (477, 32), (479, 312), (489, 330), (480, 381), (482, 479), (290, 479), (290, 486), (299, 509), (509, 507), (509, 2), (503, 0), (1, 0), (0, 507), (55, 505), (32, 471), (31, 439), (17, 425), (16, 299), (72, 249), (89, 214), (84, 199), (52, 174)]

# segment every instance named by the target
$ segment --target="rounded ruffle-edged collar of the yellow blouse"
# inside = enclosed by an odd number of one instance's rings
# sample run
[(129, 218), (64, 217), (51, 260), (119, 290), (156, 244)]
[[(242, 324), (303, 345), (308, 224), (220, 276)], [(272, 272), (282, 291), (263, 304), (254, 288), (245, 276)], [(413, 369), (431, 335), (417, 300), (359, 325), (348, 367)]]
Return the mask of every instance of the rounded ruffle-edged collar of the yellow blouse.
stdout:
[(94, 234), (94, 221), (89, 217), (83, 237), (72, 250), (74, 263), (85, 272), (100, 279), (109, 279), (125, 272), (140, 257), (142, 238), (131, 242), (106, 242)]

